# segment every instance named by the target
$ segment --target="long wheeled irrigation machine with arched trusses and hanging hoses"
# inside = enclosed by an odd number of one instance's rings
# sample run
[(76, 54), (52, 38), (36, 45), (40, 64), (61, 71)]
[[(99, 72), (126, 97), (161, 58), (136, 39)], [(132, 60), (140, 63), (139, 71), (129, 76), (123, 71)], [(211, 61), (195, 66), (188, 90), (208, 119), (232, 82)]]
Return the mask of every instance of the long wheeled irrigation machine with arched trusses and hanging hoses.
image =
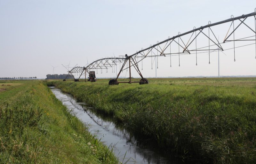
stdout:
[[(193, 30), (190, 30), (185, 33), (178, 33), (178, 35), (173, 37), (168, 37), (168, 39), (158, 42), (154, 45), (150, 45), (146, 49), (141, 49), (136, 53), (128, 56), (119, 56), (118, 58), (102, 58), (93, 61), (87, 66), (84, 67), (74, 67), (70, 71), (68, 71), (68, 75), (72, 75), (74, 81), (79, 81), (81, 76), (89, 75), (91, 78), (91, 70), (98, 70), (102, 73), (105, 69), (106, 73), (108, 69), (113, 68), (115, 71), (115, 67), (117, 70), (117, 65), (119, 65), (119, 73), (117, 77), (111, 79), (108, 84), (109, 85), (118, 85), (119, 83), (140, 83), (140, 84), (148, 84), (148, 80), (144, 78), (139, 69), (139, 63), (143, 66), (143, 59), (151, 58), (151, 68), (153, 64), (153, 59), (157, 59), (157, 68), (158, 68), (158, 58), (159, 57), (168, 57), (170, 59), (170, 67), (172, 67), (172, 56), (179, 57), (179, 66), (180, 66), (180, 55), (188, 55), (195, 54), (196, 57), (196, 66), (197, 66), (197, 54), (206, 53), (209, 55), (209, 64), (210, 62), (210, 54), (214, 51), (226, 51), (226, 50), (234, 50), (234, 61), (236, 61), (236, 49), (244, 46), (249, 46), (255, 44), (255, 59), (256, 59), (256, 8), (254, 12), (250, 14), (245, 14), (242, 16), (234, 17), (231, 15), (231, 18), (223, 21), (219, 21), (216, 23), (208, 22), (207, 25), (201, 27), (194, 27)], [(220, 26), (220, 27), (219, 27)], [(224, 27), (222, 27), (224, 26)], [(224, 40), (222, 43), (216, 37), (216, 31), (213, 32), (213, 28), (216, 28), (218, 33), (221, 33), (220, 36), (223, 36)], [(225, 32), (228, 29), (227, 33)], [(239, 29), (242, 32), (238, 32)], [(241, 31), (240, 30), (240, 31)], [(236, 33), (236, 35), (235, 35)], [(183, 37), (183, 39), (181, 38)], [(184, 39), (185, 38), (185, 39)], [(185, 42), (186, 41), (186, 42)], [(203, 44), (204, 43), (204, 46)], [(225, 43), (225, 44), (224, 44)], [(206, 44), (206, 45), (205, 45)], [(224, 47), (223, 45), (227, 46)], [(171, 47), (172, 46), (172, 47)], [(174, 47), (174, 48), (173, 48)], [(232, 52), (233, 53), (233, 52)], [(132, 81), (131, 76), (131, 67), (134, 67), (137, 73), (140, 75), (140, 81)], [(118, 77), (121, 72), (124, 70), (129, 70), (129, 81), (127, 82), (118, 82)], [(78, 79), (75, 78), (74, 74), (80, 75)], [(68, 77), (67, 75), (67, 77)], [(95, 76), (95, 72), (94, 72)], [(66, 78), (67, 78), (66, 77)], [(64, 81), (66, 80), (64, 79)], [(94, 77), (96, 79), (96, 77)], [(91, 81), (92, 82), (92, 81)]]

